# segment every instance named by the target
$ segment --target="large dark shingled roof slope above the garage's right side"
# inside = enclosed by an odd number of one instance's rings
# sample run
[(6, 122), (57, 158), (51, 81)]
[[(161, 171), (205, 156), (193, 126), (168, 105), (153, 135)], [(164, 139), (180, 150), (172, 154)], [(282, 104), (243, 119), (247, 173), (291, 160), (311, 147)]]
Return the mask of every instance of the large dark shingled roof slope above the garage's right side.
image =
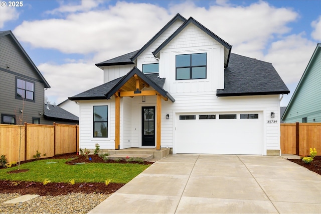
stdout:
[(224, 72), (224, 89), (218, 89), (217, 96), (289, 92), (271, 63), (231, 53), (229, 66)]

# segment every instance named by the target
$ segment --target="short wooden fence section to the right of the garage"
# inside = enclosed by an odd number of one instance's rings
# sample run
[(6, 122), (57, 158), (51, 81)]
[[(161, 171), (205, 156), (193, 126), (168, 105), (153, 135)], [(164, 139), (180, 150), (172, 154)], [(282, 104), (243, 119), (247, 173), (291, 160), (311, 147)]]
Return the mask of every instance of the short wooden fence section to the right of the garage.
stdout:
[(281, 124), (280, 143), (283, 154), (305, 156), (315, 148), (321, 155), (321, 123)]

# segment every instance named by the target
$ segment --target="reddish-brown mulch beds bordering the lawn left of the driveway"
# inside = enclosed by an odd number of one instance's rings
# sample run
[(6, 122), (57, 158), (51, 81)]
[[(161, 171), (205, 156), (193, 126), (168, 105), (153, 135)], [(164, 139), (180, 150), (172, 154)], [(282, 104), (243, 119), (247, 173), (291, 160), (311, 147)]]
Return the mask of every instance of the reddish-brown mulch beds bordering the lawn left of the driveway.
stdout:
[[(89, 157), (91, 160), (89, 160)], [(42, 159), (68, 159), (68, 158), (75, 158), (74, 160), (66, 162), (66, 164), (76, 164), (76, 163), (136, 163), (136, 162), (127, 162), (125, 160), (121, 160), (115, 162), (113, 160), (108, 160), (104, 162), (98, 155), (89, 155), (88, 159), (84, 156), (77, 155), (76, 153), (72, 154), (64, 154), (64, 155), (57, 155), (55, 157), (50, 158), (42, 158)], [(28, 163), (31, 161), (37, 160), (27, 160), (21, 161), (20, 164)], [(136, 163), (136, 164), (152, 164), (153, 162), (144, 161), (143, 163)], [(0, 168), (1, 169), (1, 168)], [(14, 170), (11, 173), (23, 173), (24, 171), (21, 170)], [(16, 183), (15, 183), (16, 182)], [(18, 185), (15, 185), (18, 184)], [(109, 185), (105, 185), (105, 183), (75, 183), (71, 185), (69, 183), (48, 183), (43, 185), (42, 182), (26, 182), (26, 181), (6, 181), (0, 180), (0, 193), (15, 193), (18, 192), (22, 195), (24, 194), (39, 194), (39, 195), (66, 195), (71, 192), (83, 192), (83, 193), (104, 193), (110, 194), (117, 191), (120, 187), (122, 187), (123, 183), (109, 183)]]

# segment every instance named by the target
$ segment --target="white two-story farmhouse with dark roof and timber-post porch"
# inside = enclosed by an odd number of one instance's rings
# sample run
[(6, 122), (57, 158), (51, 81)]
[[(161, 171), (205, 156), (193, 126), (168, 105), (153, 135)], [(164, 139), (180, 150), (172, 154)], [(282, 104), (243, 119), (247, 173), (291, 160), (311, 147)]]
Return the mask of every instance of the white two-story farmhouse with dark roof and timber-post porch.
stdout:
[(104, 84), (80, 103), (80, 148), (173, 148), (173, 153), (280, 154), (280, 94), (271, 63), (176, 15), (140, 50), (96, 64)]

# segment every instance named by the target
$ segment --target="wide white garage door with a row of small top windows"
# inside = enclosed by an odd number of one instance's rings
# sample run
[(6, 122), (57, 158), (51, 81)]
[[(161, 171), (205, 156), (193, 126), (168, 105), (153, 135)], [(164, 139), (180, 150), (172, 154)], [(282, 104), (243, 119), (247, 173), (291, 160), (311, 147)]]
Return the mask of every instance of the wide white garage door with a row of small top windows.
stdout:
[(263, 114), (176, 115), (176, 153), (263, 154)]

